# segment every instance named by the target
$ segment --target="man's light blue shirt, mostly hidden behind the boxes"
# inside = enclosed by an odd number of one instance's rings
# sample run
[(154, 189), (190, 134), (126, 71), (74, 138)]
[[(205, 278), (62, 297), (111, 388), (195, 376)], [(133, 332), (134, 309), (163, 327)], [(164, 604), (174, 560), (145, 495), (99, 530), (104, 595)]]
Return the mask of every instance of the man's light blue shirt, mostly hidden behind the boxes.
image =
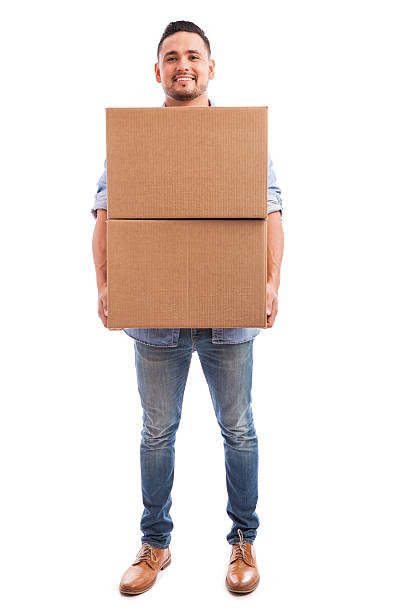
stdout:
[[(210, 106), (215, 106), (211, 100), (209, 100)], [(163, 103), (162, 106), (166, 106)], [(101, 178), (98, 181), (98, 187), (95, 195), (95, 202), (91, 209), (93, 216), (96, 218), (96, 211), (98, 208), (107, 210), (107, 191), (106, 191), (106, 160), (105, 169), (102, 173)], [(280, 211), (282, 217), (282, 198), (281, 190), (276, 184), (276, 175), (272, 166), (272, 160), (268, 153), (268, 214), (271, 212)], [(166, 328), (128, 328), (124, 330), (128, 336), (144, 342), (145, 344), (151, 344), (154, 346), (177, 346), (180, 328), (166, 329)], [(214, 344), (239, 344), (241, 342), (247, 342), (252, 340), (259, 334), (261, 330), (256, 327), (227, 327), (227, 328), (213, 328), (212, 330), (212, 342)]]

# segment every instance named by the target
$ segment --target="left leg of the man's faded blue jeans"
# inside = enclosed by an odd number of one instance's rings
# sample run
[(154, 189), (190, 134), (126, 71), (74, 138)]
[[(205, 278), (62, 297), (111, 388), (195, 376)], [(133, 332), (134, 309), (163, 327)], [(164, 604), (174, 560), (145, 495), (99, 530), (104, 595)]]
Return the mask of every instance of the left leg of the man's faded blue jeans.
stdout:
[(144, 511), (142, 542), (167, 548), (173, 522), (170, 516), (174, 479), (176, 432), (187, 375), (191, 344), (149, 346), (135, 341), (137, 382), (143, 408), (140, 469)]

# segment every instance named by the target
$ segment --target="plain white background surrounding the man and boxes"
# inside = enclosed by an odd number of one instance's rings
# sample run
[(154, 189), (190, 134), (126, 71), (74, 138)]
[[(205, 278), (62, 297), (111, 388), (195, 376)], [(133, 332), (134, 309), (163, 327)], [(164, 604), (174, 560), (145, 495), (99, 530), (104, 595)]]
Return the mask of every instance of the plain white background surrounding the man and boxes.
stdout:
[[(402, 2), (15, 2), (1, 15), (4, 609), (406, 611), (407, 95)], [(194, 353), (172, 564), (140, 548), (133, 343), (96, 313), (108, 106), (160, 106), (167, 23), (212, 45), (218, 106), (269, 106), (279, 313), (254, 343), (261, 581), (234, 597), (222, 437)], [(163, 305), (165, 308), (165, 304)]]

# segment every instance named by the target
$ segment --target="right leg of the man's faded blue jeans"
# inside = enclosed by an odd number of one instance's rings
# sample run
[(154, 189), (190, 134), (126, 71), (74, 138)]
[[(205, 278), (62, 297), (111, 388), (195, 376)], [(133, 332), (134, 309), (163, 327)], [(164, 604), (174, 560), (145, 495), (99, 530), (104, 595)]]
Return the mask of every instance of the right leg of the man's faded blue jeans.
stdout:
[(197, 352), (211, 394), (215, 414), (224, 438), (227, 514), (233, 525), (227, 535), (230, 544), (256, 538), (259, 518), (258, 437), (251, 402), (253, 339), (239, 344), (212, 344), (204, 335)]

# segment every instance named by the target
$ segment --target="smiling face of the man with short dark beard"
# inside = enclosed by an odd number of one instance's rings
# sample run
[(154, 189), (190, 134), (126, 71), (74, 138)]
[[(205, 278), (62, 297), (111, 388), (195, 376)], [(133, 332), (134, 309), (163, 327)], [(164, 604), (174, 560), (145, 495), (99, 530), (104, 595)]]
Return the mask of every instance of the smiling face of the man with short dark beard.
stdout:
[(177, 32), (162, 43), (154, 66), (156, 81), (169, 98), (193, 100), (207, 91), (209, 79), (214, 78), (214, 64), (201, 36)]

